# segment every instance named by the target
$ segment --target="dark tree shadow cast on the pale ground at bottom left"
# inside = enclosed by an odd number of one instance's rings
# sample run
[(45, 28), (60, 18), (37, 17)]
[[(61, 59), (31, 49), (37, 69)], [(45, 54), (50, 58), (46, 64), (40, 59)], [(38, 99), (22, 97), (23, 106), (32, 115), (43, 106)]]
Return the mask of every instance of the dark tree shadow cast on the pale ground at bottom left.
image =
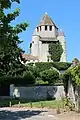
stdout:
[(41, 112), (47, 112), (47, 111), (8, 111), (8, 110), (1, 110), (0, 111), (0, 120), (21, 120), (30, 118), (32, 116), (39, 115)]

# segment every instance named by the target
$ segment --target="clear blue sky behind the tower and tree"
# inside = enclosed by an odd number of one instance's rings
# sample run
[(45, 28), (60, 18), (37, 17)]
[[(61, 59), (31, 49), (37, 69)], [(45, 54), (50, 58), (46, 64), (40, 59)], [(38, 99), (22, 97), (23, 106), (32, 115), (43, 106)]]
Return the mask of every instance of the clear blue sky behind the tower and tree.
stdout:
[(11, 10), (20, 8), (20, 15), (12, 22), (13, 25), (27, 21), (29, 27), (19, 35), (23, 43), (20, 45), (29, 52), (32, 33), (45, 14), (52, 18), (59, 30), (63, 29), (66, 36), (67, 61), (74, 58), (80, 60), (80, 0), (20, 0), (20, 5), (13, 3)]

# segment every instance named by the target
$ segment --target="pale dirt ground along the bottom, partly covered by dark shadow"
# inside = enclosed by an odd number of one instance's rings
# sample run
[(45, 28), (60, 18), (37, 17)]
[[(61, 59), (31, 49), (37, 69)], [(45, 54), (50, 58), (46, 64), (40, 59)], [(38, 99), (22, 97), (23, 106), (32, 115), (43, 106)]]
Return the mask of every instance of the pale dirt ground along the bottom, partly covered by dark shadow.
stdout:
[[(21, 118), (21, 119), (20, 119)], [(80, 113), (37, 108), (0, 108), (0, 120), (80, 120)]]

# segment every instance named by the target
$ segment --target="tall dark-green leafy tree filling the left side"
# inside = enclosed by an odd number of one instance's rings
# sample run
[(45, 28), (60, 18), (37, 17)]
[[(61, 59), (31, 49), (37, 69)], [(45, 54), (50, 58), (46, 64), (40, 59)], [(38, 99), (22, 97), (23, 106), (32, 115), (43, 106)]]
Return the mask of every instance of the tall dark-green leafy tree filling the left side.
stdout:
[(15, 27), (10, 24), (20, 13), (20, 9), (16, 9), (13, 13), (5, 14), (4, 9), (10, 9), (13, 2), (20, 3), (19, 0), (0, 0), (0, 76), (15, 76), (25, 69), (20, 62), (24, 51), (19, 47), (22, 41), (18, 34), (26, 30), (28, 24), (25, 22)]

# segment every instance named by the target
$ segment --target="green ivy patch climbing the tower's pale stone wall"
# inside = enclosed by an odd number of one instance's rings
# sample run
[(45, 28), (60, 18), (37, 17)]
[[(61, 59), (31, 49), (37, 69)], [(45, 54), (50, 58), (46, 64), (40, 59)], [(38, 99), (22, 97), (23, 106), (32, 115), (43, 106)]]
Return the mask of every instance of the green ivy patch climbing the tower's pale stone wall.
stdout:
[(54, 62), (59, 62), (61, 55), (63, 53), (62, 45), (60, 44), (60, 42), (50, 43), (49, 53), (50, 53), (51, 60), (53, 60)]

